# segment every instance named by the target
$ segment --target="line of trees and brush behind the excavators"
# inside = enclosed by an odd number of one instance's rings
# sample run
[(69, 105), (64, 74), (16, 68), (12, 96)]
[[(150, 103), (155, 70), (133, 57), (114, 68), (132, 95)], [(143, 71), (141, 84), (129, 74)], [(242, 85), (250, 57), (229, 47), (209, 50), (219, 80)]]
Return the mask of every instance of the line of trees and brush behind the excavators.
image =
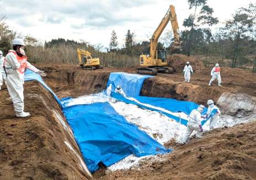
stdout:
[[(182, 54), (203, 57), (206, 65), (218, 61), (222, 65), (250, 68), (256, 72), (256, 3), (250, 3), (247, 7), (237, 9), (229, 20), (220, 24), (218, 18), (213, 16), (214, 9), (207, 5), (207, 1), (188, 0), (189, 9), (193, 13), (184, 19), (185, 30), (180, 32)], [(21, 37), (21, 35), (10, 30), (4, 22), (4, 18), (4, 16), (0, 16), (0, 50), (6, 54), (12, 48), (11, 41), (13, 38)], [(212, 30), (210, 28), (217, 24), (218, 29)], [(26, 48), (39, 47), (38, 49), (42, 51), (61, 45), (62, 47), (83, 47), (90, 49), (93, 53), (111, 53), (113, 57), (126, 55), (126, 57), (133, 59), (142, 53), (150, 53), (150, 40), (136, 42), (135, 32), (130, 30), (126, 32), (123, 44), (119, 44), (118, 36), (113, 30), (109, 47), (106, 47), (105, 50), (102, 44), (93, 46), (84, 40), (78, 42), (58, 38), (40, 44), (36, 38), (27, 35), (24, 37), (24, 41)], [(167, 52), (170, 53), (172, 42), (172, 31), (166, 31), (159, 39), (158, 49), (166, 48)], [(33, 53), (33, 50), (28, 51)], [(127, 58), (127, 64), (131, 64), (128, 61), (129, 58)]]

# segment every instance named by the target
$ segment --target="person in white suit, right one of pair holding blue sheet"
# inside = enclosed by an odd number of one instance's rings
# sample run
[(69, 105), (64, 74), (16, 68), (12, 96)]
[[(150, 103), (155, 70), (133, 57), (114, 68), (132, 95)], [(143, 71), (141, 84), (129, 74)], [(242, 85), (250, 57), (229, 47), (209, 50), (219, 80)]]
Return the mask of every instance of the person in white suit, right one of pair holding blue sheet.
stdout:
[(210, 130), (213, 130), (214, 128), (217, 127), (219, 121), (220, 121), (220, 115), (221, 111), (218, 109), (216, 105), (214, 105), (214, 101), (209, 99), (207, 101), (208, 109), (207, 109), (207, 114), (206, 118), (210, 116)]

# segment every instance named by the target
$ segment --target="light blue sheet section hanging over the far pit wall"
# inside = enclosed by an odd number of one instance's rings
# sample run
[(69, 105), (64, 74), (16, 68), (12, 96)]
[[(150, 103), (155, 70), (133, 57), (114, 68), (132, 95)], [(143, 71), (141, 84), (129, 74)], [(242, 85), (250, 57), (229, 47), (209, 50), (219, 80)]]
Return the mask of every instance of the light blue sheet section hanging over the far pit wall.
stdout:
[(119, 85), (127, 97), (136, 97), (141, 93), (144, 80), (150, 77), (154, 76), (112, 72), (109, 76), (108, 87), (111, 84), (111, 91), (115, 92), (116, 86)]

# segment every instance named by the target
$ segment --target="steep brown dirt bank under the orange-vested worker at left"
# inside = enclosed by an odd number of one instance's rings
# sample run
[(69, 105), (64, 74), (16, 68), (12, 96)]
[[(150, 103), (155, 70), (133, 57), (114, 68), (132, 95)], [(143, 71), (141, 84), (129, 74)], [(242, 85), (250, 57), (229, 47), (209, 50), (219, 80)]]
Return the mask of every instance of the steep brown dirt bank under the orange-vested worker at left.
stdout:
[(25, 83), (17, 119), (7, 89), (0, 93), (0, 179), (91, 179), (60, 106), (38, 82)]

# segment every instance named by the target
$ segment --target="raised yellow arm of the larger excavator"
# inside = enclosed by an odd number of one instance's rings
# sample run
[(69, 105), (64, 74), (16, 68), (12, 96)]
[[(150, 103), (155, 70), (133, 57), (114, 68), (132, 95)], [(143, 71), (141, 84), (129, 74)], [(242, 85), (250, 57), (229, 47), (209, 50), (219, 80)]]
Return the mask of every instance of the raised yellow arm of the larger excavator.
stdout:
[(158, 25), (156, 31), (154, 31), (153, 36), (150, 40), (150, 56), (153, 59), (156, 57), (158, 39), (161, 36), (163, 30), (166, 28), (169, 21), (172, 25), (175, 49), (180, 49), (180, 35), (177, 15), (175, 13), (174, 5), (170, 5), (166, 15), (164, 15), (164, 18)]

